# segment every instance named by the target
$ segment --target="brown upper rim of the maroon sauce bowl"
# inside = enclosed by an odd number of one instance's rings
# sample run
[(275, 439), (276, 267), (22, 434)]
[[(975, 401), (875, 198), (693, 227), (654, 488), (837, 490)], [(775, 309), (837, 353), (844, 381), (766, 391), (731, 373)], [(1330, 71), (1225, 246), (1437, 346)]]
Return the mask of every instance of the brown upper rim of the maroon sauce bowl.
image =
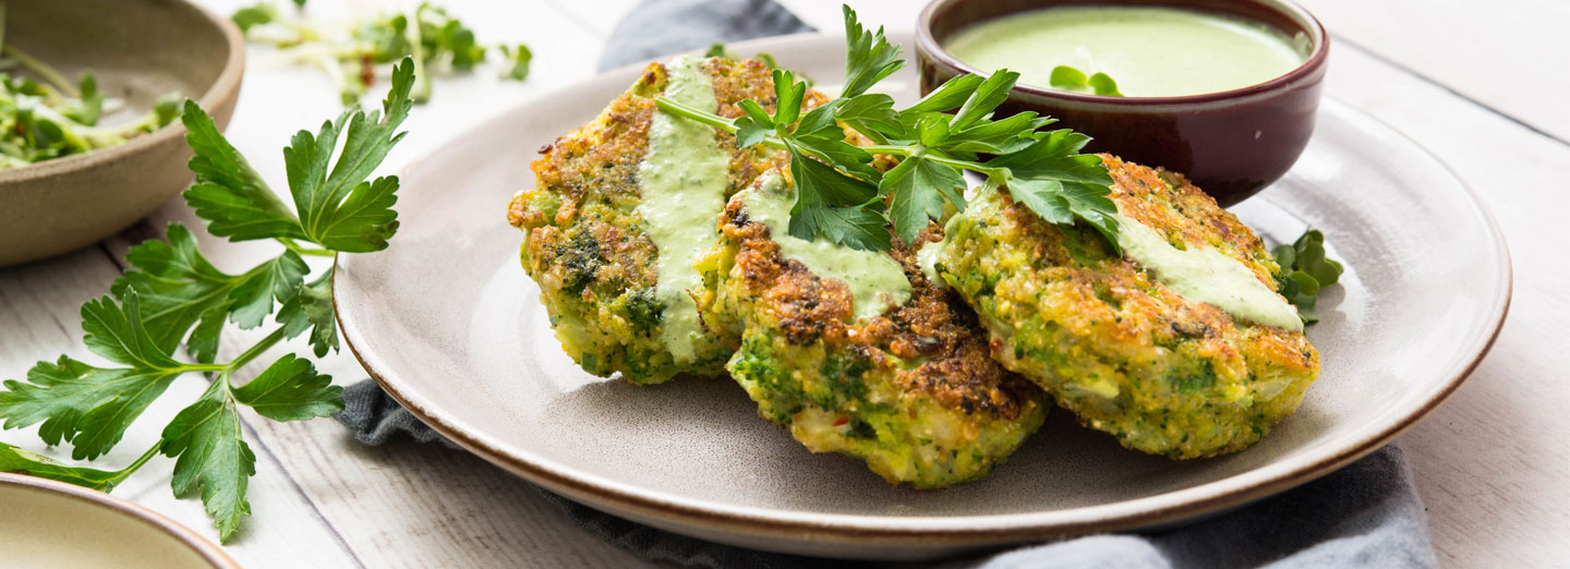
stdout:
[[(984, 72), (981, 69), (972, 68), (970, 64), (966, 64), (966, 63), (959, 61), (958, 58), (953, 57), (953, 53), (948, 53), (948, 50), (945, 50), (944, 46), (939, 44), (936, 38), (933, 38), (933, 19), (937, 16), (937, 9), (950, 6), (950, 5), (956, 3), (956, 2), (964, 2), (964, 0), (933, 0), (933, 2), (929, 2), (926, 5), (926, 8), (922, 9), (922, 16), (918, 16), (917, 20), (915, 20), (915, 24), (917, 24), (915, 25), (915, 49), (918, 52), (917, 55), (918, 57), (931, 57), (937, 63), (942, 63), (944, 66), (958, 69), (958, 71), (966, 72), (966, 74), (989, 75), (988, 72)], [(1187, 104), (1201, 104), (1201, 102), (1217, 102), (1217, 101), (1240, 99), (1240, 97), (1247, 97), (1247, 96), (1251, 96), (1251, 94), (1259, 94), (1259, 93), (1267, 93), (1267, 91), (1280, 90), (1280, 88), (1289, 86), (1289, 85), (1292, 85), (1292, 83), (1295, 83), (1295, 82), (1308, 77), (1309, 74), (1319, 71), (1320, 68), (1324, 68), (1325, 60), (1328, 58), (1328, 53), (1330, 53), (1330, 33), (1325, 31), (1325, 25), (1320, 24), (1319, 19), (1314, 17), (1313, 13), (1309, 13), (1306, 8), (1297, 5), (1292, 0), (1245, 0), (1245, 2), (1251, 2), (1251, 3), (1256, 3), (1256, 5), (1265, 5), (1265, 6), (1272, 6), (1272, 8), (1280, 8), (1287, 16), (1298, 16), (1305, 22), (1313, 24), (1308, 31), (1309, 31), (1309, 36), (1311, 36), (1309, 39), (1314, 41), (1314, 50), (1308, 55), (1308, 60), (1303, 61), (1303, 64), (1297, 66), (1295, 69), (1292, 69), (1292, 71), (1289, 71), (1289, 72), (1286, 72), (1286, 74), (1283, 74), (1283, 75), (1280, 75), (1276, 79), (1272, 79), (1269, 82), (1254, 83), (1254, 85), (1248, 85), (1248, 86), (1240, 86), (1240, 88), (1229, 90), (1229, 91), (1215, 91), (1215, 93), (1182, 94), (1182, 96), (1160, 96), (1160, 97), (1115, 97), (1115, 96), (1107, 96), (1107, 94), (1083, 94), (1083, 93), (1058, 91), (1058, 90), (1044, 88), (1044, 86), (1035, 86), (1035, 85), (1027, 85), (1027, 83), (1014, 83), (1014, 91), (1031, 94), (1031, 96), (1038, 96), (1038, 97), (1061, 99), (1061, 101), (1072, 101), (1072, 102), (1107, 104), (1107, 105), (1119, 105), (1119, 107), (1187, 105)], [(1064, 2), (1064, 3), (1096, 3), (1096, 2), (1094, 0), (1071, 0), (1071, 2)], [(978, 24), (978, 22), (973, 22), (970, 25), (975, 25), (975, 24)]]

